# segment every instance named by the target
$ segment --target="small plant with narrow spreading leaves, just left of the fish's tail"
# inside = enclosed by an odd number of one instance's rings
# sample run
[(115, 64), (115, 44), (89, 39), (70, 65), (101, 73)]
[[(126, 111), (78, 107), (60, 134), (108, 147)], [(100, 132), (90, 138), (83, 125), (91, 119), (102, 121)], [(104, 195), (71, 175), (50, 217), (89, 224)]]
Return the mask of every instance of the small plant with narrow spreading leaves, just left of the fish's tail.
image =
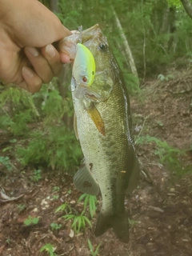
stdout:
[(73, 220), (71, 228), (74, 228), (74, 232), (77, 234), (80, 232), (80, 230), (86, 229), (86, 224), (92, 226), (89, 218), (86, 218), (86, 216), (83, 214), (84, 211), (82, 211), (82, 214), (80, 215), (66, 214), (62, 216), (62, 218), (65, 218), (66, 221), (69, 221), (70, 219)]

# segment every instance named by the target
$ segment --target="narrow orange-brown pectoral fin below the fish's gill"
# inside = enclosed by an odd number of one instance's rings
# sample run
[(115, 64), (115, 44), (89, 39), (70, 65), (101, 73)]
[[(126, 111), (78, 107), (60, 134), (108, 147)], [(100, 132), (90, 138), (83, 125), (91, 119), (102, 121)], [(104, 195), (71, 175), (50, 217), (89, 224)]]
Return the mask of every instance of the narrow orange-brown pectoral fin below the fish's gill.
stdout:
[(86, 110), (87, 110), (87, 113), (90, 115), (90, 118), (94, 122), (94, 125), (100, 132), (100, 134), (102, 134), (103, 136), (106, 136), (104, 122), (103, 122), (102, 117), (101, 117), (100, 113), (98, 112), (96, 106), (94, 106), (94, 103), (91, 104), (91, 106), (89, 108), (87, 108)]

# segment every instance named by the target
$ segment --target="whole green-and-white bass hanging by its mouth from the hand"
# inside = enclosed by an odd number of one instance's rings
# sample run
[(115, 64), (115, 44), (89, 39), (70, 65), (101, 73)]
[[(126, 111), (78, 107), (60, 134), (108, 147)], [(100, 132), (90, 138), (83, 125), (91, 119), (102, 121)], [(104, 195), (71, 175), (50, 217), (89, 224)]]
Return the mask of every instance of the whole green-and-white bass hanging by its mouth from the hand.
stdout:
[(90, 86), (71, 80), (74, 130), (84, 155), (74, 175), (74, 186), (86, 194), (102, 194), (95, 236), (113, 228), (121, 242), (129, 242), (125, 197), (138, 186), (140, 168), (126, 84), (98, 24), (63, 40), (62, 51), (74, 60), (77, 45), (82, 42), (93, 54), (96, 66)]

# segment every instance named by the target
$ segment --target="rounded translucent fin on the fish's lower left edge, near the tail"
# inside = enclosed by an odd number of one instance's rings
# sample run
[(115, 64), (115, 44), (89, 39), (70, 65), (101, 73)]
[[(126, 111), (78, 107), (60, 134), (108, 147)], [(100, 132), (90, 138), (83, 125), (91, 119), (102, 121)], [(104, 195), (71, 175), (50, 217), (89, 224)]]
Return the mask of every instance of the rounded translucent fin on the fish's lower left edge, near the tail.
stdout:
[(95, 181), (90, 170), (86, 167), (86, 164), (83, 164), (74, 175), (74, 186), (86, 194), (97, 195), (99, 192), (98, 183)]

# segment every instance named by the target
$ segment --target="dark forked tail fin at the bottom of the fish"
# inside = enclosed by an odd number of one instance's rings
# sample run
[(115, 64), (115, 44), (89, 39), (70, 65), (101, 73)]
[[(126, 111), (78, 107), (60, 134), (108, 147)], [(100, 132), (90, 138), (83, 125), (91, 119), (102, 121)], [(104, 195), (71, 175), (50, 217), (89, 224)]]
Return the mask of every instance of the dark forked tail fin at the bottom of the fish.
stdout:
[(94, 232), (95, 236), (98, 237), (104, 234), (111, 227), (120, 241), (129, 242), (129, 222), (126, 212), (112, 216), (105, 216), (102, 213), (98, 214), (98, 222)]

